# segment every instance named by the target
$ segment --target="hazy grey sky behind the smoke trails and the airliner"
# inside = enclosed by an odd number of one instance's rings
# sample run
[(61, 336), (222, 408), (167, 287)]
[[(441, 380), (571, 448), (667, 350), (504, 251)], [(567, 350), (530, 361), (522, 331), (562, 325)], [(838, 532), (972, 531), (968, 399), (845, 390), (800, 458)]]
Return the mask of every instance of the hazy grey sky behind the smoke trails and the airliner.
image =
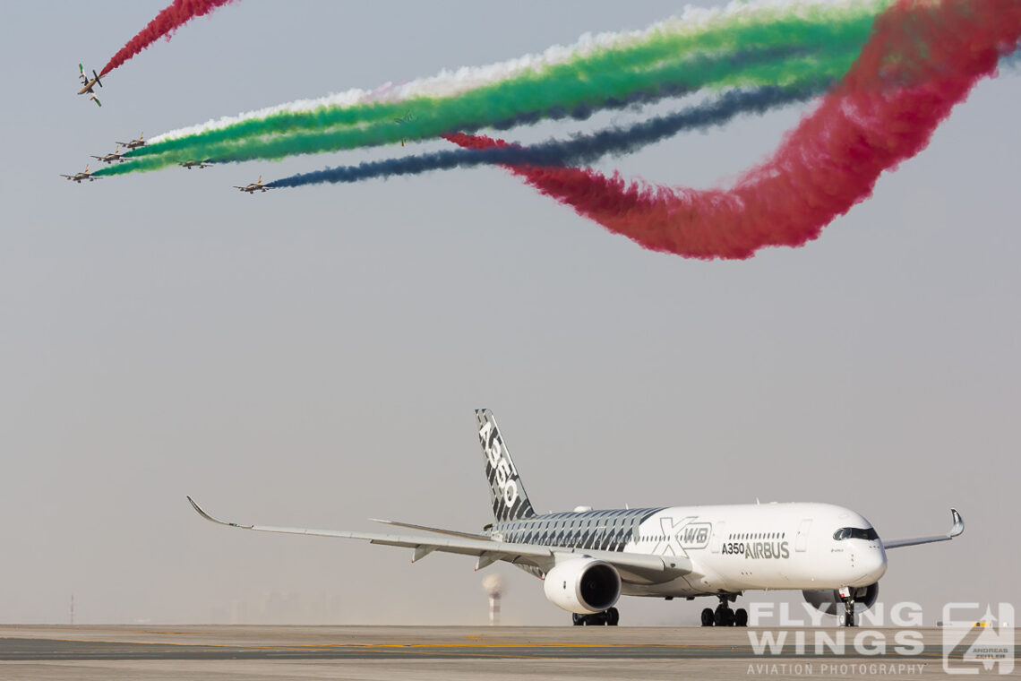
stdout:
[[(710, 4), (707, 0), (707, 4)], [(1021, 79), (800, 249), (645, 252), (497, 168), (244, 196), (231, 185), (442, 143), (169, 168), (81, 186), (114, 140), (640, 29), (669, 2), (244, 0), (111, 72), (165, 5), (5, 3), (0, 622), (481, 623), (474, 561), (217, 528), (490, 521), (473, 409), (539, 510), (818, 500), (891, 551), (880, 597), (1011, 600), (1016, 581)], [(669, 106), (668, 106), (669, 108)], [(708, 187), (805, 107), (601, 169)], [(542, 126), (518, 139), (605, 124)], [(437, 493), (439, 492), (439, 493)], [(566, 624), (506, 566), (504, 620)], [(774, 594), (755, 594), (771, 599)], [(625, 598), (622, 624), (709, 601)]]

